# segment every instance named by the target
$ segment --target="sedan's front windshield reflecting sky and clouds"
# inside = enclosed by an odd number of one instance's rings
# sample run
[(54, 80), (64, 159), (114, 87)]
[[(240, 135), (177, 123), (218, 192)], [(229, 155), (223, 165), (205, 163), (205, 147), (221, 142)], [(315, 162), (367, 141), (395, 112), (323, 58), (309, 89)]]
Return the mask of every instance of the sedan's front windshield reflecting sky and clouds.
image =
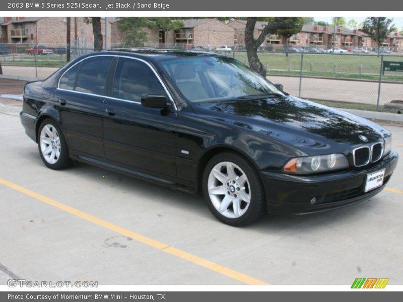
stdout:
[(159, 63), (190, 102), (219, 101), (272, 93), (283, 95), (272, 83), (232, 58), (182, 57), (161, 60)]

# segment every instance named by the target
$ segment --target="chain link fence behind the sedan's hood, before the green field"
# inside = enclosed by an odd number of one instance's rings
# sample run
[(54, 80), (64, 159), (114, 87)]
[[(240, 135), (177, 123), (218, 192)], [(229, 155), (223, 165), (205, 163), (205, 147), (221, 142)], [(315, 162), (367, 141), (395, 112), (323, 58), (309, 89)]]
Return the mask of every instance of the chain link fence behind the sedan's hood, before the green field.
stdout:
[[(248, 64), (246, 51), (216, 51)], [(403, 55), (261, 51), (267, 78), (334, 107), (403, 112)]]

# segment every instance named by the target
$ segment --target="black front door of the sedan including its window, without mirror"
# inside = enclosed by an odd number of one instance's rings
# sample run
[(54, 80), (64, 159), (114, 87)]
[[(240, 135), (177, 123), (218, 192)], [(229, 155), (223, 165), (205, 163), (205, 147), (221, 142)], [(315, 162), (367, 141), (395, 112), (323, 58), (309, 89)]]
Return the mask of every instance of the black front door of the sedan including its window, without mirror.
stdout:
[(167, 96), (151, 67), (135, 58), (119, 58), (111, 90), (104, 105), (105, 158), (145, 173), (176, 176), (176, 112), (172, 105), (141, 105), (143, 94)]

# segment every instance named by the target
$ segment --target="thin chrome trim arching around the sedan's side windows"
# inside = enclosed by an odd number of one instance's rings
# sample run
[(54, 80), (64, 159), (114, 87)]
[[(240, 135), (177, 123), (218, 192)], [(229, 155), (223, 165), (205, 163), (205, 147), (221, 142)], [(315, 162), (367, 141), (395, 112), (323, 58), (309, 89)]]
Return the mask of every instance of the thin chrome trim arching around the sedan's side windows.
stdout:
[(165, 86), (164, 82), (162, 82), (162, 79), (161, 79), (160, 75), (157, 73), (157, 71), (155, 70), (155, 68), (154, 68), (149, 62), (147, 62), (146, 60), (143, 60), (143, 59), (141, 59), (141, 58), (136, 58), (136, 57), (127, 56), (127, 55), (99, 54), (99, 55), (92, 55), (92, 56), (85, 57), (85, 58), (81, 59), (80, 61), (74, 63), (72, 66), (70, 66), (68, 69), (66, 69), (66, 70), (63, 72), (63, 74), (61, 74), (59, 80), (57, 81), (57, 89), (58, 89), (58, 90), (62, 90), (62, 91), (72, 91), (72, 92), (75, 92), (75, 93), (82, 93), (82, 94), (91, 95), (91, 96), (96, 96), (96, 97), (103, 97), (103, 98), (108, 98), (108, 99), (114, 99), (114, 100), (123, 101), (123, 102), (141, 104), (141, 102), (138, 102), (138, 101), (124, 100), (124, 99), (109, 97), (109, 96), (105, 96), (105, 95), (97, 95), (97, 94), (92, 94), (92, 93), (88, 93), (88, 92), (81, 92), (81, 91), (75, 91), (75, 90), (70, 90), (70, 89), (59, 88), (59, 86), (60, 86), (60, 80), (61, 80), (61, 78), (64, 76), (64, 73), (66, 73), (66, 72), (69, 71), (71, 68), (73, 68), (75, 65), (77, 65), (78, 63), (81, 63), (82, 61), (84, 61), (84, 60), (86, 60), (86, 59), (95, 58), (95, 57), (100, 57), (100, 56), (110, 56), (110, 57), (117, 57), (117, 58), (128, 58), (128, 59), (138, 60), (138, 61), (141, 61), (141, 62), (145, 63), (147, 66), (149, 66), (149, 68), (153, 71), (153, 73), (154, 73), (155, 76), (157, 77), (158, 81), (160, 82), (160, 84), (161, 84), (162, 87), (164, 88), (165, 93), (168, 95), (168, 98), (169, 98), (171, 104), (173, 105), (173, 107), (175, 108), (175, 110), (176, 110), (176, 111), (178, 110), (178, 108), (177, 108), (175, 102), (173, 101), (173, 98), (172, 98), (171, 94), (169, 93), (169, 91), (168, 91), (167, 87)]

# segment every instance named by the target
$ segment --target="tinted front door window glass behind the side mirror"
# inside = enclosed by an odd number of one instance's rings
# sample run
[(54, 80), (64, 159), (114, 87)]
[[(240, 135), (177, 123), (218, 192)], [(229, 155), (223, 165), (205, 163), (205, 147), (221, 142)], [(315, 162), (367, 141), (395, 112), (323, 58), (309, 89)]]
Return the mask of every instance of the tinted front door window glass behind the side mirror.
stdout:
[(141, 102), (144, 94), (166, 96), (160, 81), (147, 64), (136, 59), (119, 58), (112, 96), (117, 99)]

